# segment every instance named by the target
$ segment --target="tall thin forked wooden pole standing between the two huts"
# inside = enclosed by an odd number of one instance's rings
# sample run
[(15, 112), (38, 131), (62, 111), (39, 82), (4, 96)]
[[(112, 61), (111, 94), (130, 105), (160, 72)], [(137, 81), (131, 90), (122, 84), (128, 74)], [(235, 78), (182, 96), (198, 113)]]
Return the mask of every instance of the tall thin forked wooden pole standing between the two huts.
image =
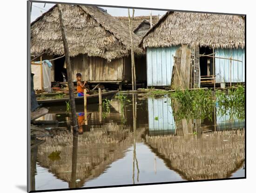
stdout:
[(132, 90), (136, 90), (136, 77), (135, 77), (136, 73), (135, 73), (134, 47), (133, 47), (133, 36), (132, 36), (133, 19), (134, 19), (134, 9), (133, 9), (132, 20), (130, 17), (130, 9), (128, 9), (129, 31), (130, 31), (130, 38), (131, 38)]

